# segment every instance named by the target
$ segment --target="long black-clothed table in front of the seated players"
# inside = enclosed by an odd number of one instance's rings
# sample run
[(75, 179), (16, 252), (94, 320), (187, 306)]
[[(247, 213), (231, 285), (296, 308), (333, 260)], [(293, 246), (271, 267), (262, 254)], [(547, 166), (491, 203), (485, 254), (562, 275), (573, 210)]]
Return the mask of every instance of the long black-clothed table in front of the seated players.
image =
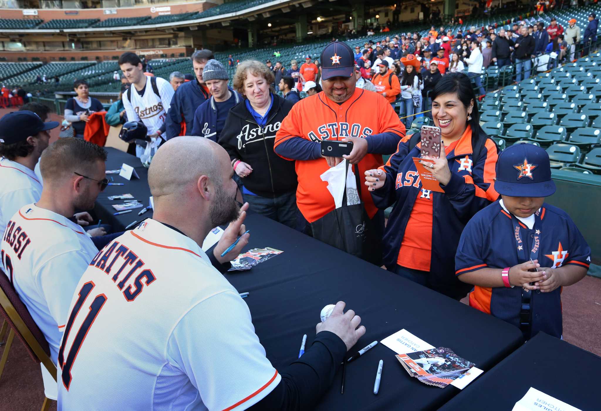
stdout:
[[(111, 150), (107, 169), (117, 169), (123, 162), (134, 166), (136, 161), (139, 160)], [(106, 200), (107, 195), (132, 193), (136, 199), (147, 202), (150, 193), (146, 170), (140, 165), (136, 171), (140, 180), (115, 178), (115, 182), (125, 181), (126, 185), (108, 187), (97, 202), (97, 214), (116, 229), (151, 217), (150, 212), (142, 218), (133, 212), (114, 216), (110, 206), (114, 202)], [(371, 341), (381, 341), (405, 328), (436, 347), (453, 349), (487, 371), (522, 343), (522, 334), (514, 326), (282, 224), (257, 214), (249, 214), (245, 224), (251, 230), (247, 248), (273, 247), (284, 251), (249, 271), (225, 274), (239, 292), (250, 293), (245, 301), (252, 323), (267, 358), (278, 369), (297, 358), (303, 334), (307, 334), (307, 349), (311, 346), (320, 311), (340, 300), (361, 316), (361, 323), (367, 328), (367, 334), (349, 356)], [(379, 394), (374, 395), (380, 359), (384, 360), (382, 382)], [(429, 410), (437, 409), (460, 392), (454, 386), (436, 388), (410, 377), (394, 352), (383, 344), (377, 344), (347, 366), (344, 394), (340, 394), (341, 374), (342, 367), (316, 410)]]

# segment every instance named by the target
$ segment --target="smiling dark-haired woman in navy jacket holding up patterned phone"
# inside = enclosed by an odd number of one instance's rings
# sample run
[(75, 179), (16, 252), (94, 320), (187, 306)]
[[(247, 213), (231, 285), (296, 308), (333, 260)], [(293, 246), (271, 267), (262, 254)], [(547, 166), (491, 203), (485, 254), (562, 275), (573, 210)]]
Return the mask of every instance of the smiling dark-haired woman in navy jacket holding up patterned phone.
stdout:
[(444, 144), (441, 158), (423, 164), (444, 192), (421, 185), (412, 160), (420, 155), (419, 133), (402, 139), (385, 166), (365, 172), (365, 184), (377, 208), (394, 204), (383, 238), (386, 268), (461, 299), (471, 286), (455, 278), (454, 256), (465, 224), (498, 197), (493, 187), (497, 149), (480, 127), (468, 76), (447, 74), (431, 97), (432, 117)]

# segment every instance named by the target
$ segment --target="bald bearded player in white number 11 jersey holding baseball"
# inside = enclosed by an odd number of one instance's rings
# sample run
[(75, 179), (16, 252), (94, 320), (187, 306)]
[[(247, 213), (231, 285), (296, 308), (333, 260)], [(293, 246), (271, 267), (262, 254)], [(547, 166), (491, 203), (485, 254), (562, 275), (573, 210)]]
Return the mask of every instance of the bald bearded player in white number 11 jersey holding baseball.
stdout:
[[(73, 296), (58, 362), (59, 410), (313, 409), (365, 334), (338, 302), (313, 345), (275, 370), (237, 290), (201, 249), (235, 220), (227, 152), (198, 137), (168, 140), (148, 169), (154, 215), (94, 257)], [(218, 257), (245, 231), (240, 217)], [(248, 234), (242, 236), (243, 244)], [(316, 307), (319, 310), (319, 308)]]

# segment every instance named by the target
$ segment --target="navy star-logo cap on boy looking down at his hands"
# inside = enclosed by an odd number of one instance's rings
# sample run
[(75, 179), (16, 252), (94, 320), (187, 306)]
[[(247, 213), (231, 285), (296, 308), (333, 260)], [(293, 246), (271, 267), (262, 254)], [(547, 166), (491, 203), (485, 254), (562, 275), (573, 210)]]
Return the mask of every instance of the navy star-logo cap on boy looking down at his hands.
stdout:
[(495, 191), (511, 197), (548, 197), (555, 193), (547, 152), (533, 144), (509, 146), (496, 161)]

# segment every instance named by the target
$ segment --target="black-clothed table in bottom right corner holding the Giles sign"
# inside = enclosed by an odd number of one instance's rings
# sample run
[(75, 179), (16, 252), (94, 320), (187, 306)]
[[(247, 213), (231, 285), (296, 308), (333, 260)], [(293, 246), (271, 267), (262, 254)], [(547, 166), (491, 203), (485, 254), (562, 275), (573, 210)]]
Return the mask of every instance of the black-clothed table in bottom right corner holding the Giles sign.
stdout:
[(539, 332), (441, 410), (510, 410), (530, 387), (581, 410), (599, 409), (601, 357)]

